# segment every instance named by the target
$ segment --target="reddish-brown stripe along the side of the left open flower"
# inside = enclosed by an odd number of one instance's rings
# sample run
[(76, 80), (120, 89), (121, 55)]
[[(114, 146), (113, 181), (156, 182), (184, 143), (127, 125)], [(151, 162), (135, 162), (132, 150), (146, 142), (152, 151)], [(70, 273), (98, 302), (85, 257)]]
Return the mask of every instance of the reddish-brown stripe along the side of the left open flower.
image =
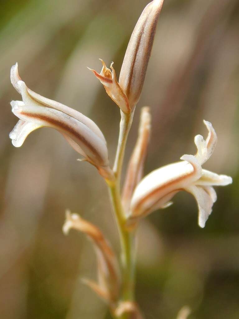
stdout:
[[(101, 158), (100, 154), (98, 153), (98, 151), (96, 150), (96, 148), (89, 143), (85, 137), (83, 137), (83, 135), (77, 133), (76, 130), (74, 130), (70, 125), (68, 125), (67, 123), (61, 122), (60, 120), (56, 120), (54, 118), (51, 118), (50, 116), (46, 116), (46, 115), (40, 115), (40, 114), (32, 114), (32, 113), (28, 113), (28, 112), (21, 112), (22, 115), (25, 115), (27, 117), (30, 118), (35, 118), (41, 121), (44, 121), (46, 123), (52, 124), (53, 126), (58, 127), (60, 130), (64, 130), (67, 133), (70, 133), (71, 135), (73, 135), (76, 139), (80, 140), (89, 150), (91, 150), (91, 152), (95, 155), (96, 158), (98, 158), (99, 163), (95, 163), (95, 159), (91, 159), (90, 156), (87, 154), (87, 157), (89, 157), (95, 164), (104, 164), (103, 159)], [(82, 123), (83, 124), (83, 123)], [(83, 124), (85, 125), (85, 124)], [(86, 126), (87, 127), (87, 126)], [(104, 165), (103, 165), (104, 166)]]

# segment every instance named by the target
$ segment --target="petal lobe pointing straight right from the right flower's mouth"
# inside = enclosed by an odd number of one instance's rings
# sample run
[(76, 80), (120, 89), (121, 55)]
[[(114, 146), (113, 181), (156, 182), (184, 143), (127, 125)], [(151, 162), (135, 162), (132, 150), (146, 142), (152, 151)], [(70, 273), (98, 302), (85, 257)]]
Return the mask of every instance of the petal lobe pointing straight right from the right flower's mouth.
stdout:
[(225, 186), (232, 183), (232, 178), (227, 175), (218, 175), (216, 173), (207, 171), (206, 169), (202, 170), (202, 176), (198, 181), (195, 182), (196, 185), (203, 186)]

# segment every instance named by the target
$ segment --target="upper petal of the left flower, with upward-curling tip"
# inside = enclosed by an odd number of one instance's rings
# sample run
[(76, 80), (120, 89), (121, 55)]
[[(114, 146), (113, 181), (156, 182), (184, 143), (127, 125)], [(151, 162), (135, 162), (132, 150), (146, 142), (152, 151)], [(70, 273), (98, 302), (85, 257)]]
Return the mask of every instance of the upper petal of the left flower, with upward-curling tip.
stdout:
[[(74, 110), (73, 108), (69, 108), (68, 106), (56, 102), (54, 100), (47, 99), (40, 94), (37, 94), (30, 90), (26, 85), (25, 82), (21, 80), (18, 74), (18, 63), (13, 65), (11, 68), (11, 83), (15, 87), (15, 89), (22, 94), (22, 98), (24, 103), (27, 105), (41, 105), (46, 106), (48, 108), (54, 108), (58, 111), (61, 111), (71, 117), (74, 117), (76, 120), (84, 123), (87, 125), (98, 137), (100, 137), (103, 141), (105, 141), (104, 135), (102, 134), (101, 130), (98, 126), (89, 119), (87, 116), (81, 114), (80, 112)], [(106, 143), (106, 142), (105, 142)]]

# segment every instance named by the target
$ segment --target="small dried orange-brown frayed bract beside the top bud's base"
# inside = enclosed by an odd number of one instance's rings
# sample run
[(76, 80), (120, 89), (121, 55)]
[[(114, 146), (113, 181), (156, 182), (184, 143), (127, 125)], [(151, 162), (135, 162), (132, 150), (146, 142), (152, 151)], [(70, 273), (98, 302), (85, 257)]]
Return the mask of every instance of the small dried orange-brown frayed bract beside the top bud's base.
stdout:
[(122, 90), (121, 86), (119, 85), (115, 70), (113, 68), (113, 62), (110, 65), (110, 69), (107, 68), (105, 62), (102, 59), (99, 59), (102, 64), (102, 70), (98, 73), (95, 70), (88, 68), (90, 71), (94, 73), (94, 75), (100, 80), (100, 82), (104, 85), (106, 93), (109, 97), (120, 107), (122, 112), (128, 114), (131, 112), (129, 101)]

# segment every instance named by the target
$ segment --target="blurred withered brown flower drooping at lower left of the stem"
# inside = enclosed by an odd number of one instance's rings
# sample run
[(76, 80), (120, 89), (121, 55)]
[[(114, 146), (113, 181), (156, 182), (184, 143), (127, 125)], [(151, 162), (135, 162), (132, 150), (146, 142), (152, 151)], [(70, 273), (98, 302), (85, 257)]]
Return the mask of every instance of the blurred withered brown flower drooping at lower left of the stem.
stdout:
[(63, 233), (68, 234), (70, 229), (76, 229), (88, 236), (93, 242), (98, 262), (98, 283), (83, 279), (103, 300), (112, 308), (119, 297), (120, 277), (118, 262), (114, 252), (105, 240), (101, 231), (93, 224), (84, 220), (77, 214), (66, 211), (66, 221), (63, 225)]

